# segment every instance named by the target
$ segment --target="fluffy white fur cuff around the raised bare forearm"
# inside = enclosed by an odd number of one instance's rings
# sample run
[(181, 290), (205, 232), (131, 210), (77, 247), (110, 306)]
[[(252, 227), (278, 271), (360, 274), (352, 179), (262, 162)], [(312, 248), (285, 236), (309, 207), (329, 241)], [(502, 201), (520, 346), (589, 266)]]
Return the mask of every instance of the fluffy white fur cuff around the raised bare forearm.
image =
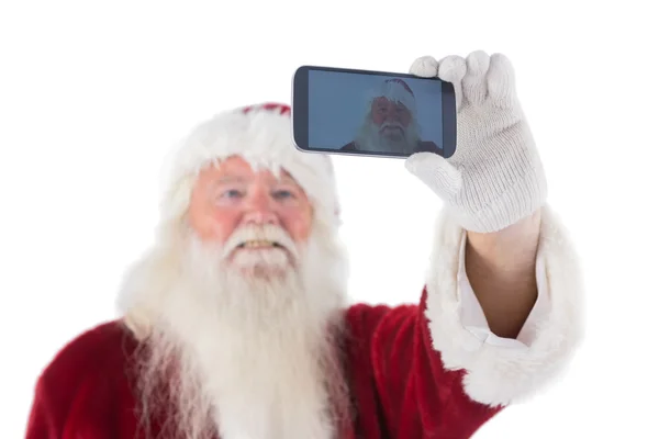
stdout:
[(509, 405), (534, 396), (566, 371), (583, 335), (583, 288), (577, 256), (565, 227), (543, 207), (539, 254), (548, 285), (549, 309), (539, 316), (535, 339), (514, 347), (483, 342), (460, 322), (457, 272), (463, 229), (443, 214), (427, 283), (433, 346), (448, 370), (461, 370), (473, 401)]

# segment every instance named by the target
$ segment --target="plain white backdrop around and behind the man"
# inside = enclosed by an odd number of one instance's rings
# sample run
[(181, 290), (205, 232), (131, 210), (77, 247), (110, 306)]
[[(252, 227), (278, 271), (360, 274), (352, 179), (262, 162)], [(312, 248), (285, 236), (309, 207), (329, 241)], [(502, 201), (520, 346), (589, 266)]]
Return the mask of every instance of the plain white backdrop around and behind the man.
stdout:
[[(156, 223), (161, 160), (189, 128), (288, 102), (302, 64), (406, 72), (417, 56), (473, 49), (516, 67), (588, 286), (568, 376), (477, 437), (659, 436), (652, 3), (1, 3), (1, 438), (24, 436), (34, 382), (63, 344), (114, 317)], [(336, 164), (354, 300), (415, 301), (440, 203), (401, 160)]]

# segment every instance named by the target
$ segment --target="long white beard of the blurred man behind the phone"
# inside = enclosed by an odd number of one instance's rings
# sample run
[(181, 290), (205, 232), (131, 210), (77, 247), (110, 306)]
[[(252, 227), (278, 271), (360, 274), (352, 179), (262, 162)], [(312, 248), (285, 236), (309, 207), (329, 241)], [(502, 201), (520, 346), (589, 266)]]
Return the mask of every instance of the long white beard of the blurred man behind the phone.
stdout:
[(192, 235), (183, 243), (154, 250), (124, 291), (154, 320), (141, 369), (145, 416), (164, 409), (164, 384), (176, 437), (336, 437), (337, 417), (348, 416), (336, 352), (347, 278), (337, 238), (312, 235), (299, 267), (270, 279), (222, 269), (221, 249)]

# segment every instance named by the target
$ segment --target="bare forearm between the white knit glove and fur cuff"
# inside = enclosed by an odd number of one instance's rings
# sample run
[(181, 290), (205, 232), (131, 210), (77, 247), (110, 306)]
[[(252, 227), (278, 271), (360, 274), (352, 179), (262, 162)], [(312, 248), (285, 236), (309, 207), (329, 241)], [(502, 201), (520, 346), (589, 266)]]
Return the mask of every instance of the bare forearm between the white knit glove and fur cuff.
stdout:
[(537, 299), (540, 212), (496, 233), (467, 233), (467, 277), (492, 333), (516, 338)]

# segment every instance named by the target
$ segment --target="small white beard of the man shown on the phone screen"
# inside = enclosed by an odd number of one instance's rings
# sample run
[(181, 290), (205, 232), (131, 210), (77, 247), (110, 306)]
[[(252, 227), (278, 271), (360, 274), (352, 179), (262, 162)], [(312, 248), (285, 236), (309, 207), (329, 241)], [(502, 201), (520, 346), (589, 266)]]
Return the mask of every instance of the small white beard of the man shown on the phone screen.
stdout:
[(421, 142), (420, 128), (416, 121), (412, 121), (406, 128), (399, 126), (403, 134), (400, 138), (392, 139), (383, 136), (381, 126), (372, 122), (370, 113), (366, 116), (364, 124), (355, 137), (357, 149), (370, 153), (404, 153), (412, 154)]

